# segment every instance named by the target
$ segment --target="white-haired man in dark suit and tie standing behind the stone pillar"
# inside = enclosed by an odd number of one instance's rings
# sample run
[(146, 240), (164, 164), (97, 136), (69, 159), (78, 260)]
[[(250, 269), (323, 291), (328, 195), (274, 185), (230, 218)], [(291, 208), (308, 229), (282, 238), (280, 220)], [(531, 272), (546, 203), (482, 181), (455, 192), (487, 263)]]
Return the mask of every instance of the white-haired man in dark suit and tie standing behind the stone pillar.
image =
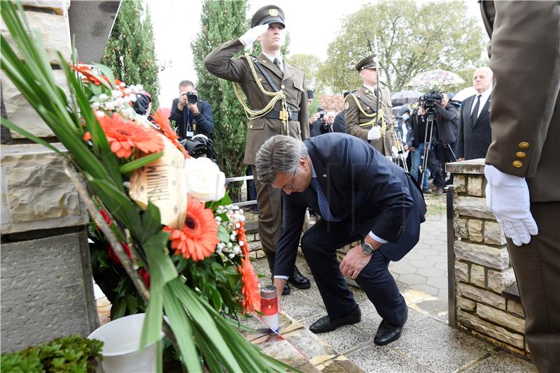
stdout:
[(457, 160), (484, 158), (490, 142), (490, 94), (492, 71), (479, 67), (472, 74), (472, 86), (477, 94), (465, 98), (461, 105), (461, 123), (457, 143)]

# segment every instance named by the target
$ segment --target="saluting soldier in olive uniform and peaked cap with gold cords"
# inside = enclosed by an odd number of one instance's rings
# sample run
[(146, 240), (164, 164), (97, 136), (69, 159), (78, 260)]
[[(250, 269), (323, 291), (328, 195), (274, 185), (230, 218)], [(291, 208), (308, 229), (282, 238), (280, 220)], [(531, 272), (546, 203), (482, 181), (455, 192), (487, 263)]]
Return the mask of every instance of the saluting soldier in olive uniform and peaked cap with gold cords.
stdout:
[[(249, 119), (244, 162), (251, 166), (255, 175), (258, 233), (272, 273), (282, 223), (282, 194), (280, 189), (258, 182), (255, 155), (260, 145), (275, 135), (300, 140), (309, 138), (304, 73), (284, 61), (280, 52), (285, 27), (283, 10), (277, 6), (264, 6), (253, 15), (251, 29), (243, 36), (219, 45), (204, 59), (204, 66), (210, 73), (233, 82), (237, 98)], [(233, 58), (255, 41), (260, 42), (261, 54), (253, 57), (245, 53)], [(288, 281), (297, 288), (310, 286), (309, 280), (295, 266)], [(283, 293), (289, 292), (286, 284)]]

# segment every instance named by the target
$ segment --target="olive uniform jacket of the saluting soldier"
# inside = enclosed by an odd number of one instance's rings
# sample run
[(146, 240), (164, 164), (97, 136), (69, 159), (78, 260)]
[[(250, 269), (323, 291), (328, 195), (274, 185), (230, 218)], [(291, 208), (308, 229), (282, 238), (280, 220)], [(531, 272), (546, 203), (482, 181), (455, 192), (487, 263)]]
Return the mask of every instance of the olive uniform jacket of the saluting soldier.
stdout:
[[(233, 58), (244, 48), (239, 38), (219, 45), (204, 59), (204, 66), (218, 78), (238, 82), (245, 93), (251, 110), (262, 110), (270, 101), (270, 96), (262, 94), (251, 68), (244, 57)], [(284, 60), (284, 72), (274, 65), (264, 54), (259, 54), (258, 61), (267, 72), (269, 78), (286, 94), (286, 104), (291, 112), (297, 112), (299, 120), (288, 122), (289, 136), (305, 140), (309, 138), (309, 114), (307, 112), (307, 90), (304, 83), (304, 73), (299, 68), (291, 66)], [(254, 66), (254, 64), (253, 64)], [(274, 92), (266, 78), (255, 67), (257, 79), (268, 92)], [(281, 100), (274, 105), (274, 110), (281, 110)], [(245, 147), (246, 164), (255, 164), (255, 156), (266, 140), (275, 135), (288, 135), (280, 119), (260, 117), (251, 120), (248, 126)]]

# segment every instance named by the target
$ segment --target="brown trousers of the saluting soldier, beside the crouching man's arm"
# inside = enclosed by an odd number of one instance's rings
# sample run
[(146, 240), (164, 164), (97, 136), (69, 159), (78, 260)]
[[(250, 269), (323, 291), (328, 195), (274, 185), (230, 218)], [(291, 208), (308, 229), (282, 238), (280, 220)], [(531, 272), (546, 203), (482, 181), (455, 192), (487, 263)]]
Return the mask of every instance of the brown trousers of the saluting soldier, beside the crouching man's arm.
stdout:
[[(276, 243), (280, 238), (282, 226), (282, 191), (270, 184), (258, 181), (255, 165), (251, 165), (255, 186), (257, 188), (258, 235), (265, 254), (276, 252)], [(272, 261), (274, 263), (274, 261)]]

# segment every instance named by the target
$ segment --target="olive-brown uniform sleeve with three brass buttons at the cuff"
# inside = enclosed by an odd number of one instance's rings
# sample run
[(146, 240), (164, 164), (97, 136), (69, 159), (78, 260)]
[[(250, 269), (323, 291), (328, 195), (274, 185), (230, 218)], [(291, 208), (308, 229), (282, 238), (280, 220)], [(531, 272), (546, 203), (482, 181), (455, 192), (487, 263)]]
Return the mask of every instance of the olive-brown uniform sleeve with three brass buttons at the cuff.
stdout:
[(495, 1), (486, 164), (535, 175), (560, 88), (560, 2)]

